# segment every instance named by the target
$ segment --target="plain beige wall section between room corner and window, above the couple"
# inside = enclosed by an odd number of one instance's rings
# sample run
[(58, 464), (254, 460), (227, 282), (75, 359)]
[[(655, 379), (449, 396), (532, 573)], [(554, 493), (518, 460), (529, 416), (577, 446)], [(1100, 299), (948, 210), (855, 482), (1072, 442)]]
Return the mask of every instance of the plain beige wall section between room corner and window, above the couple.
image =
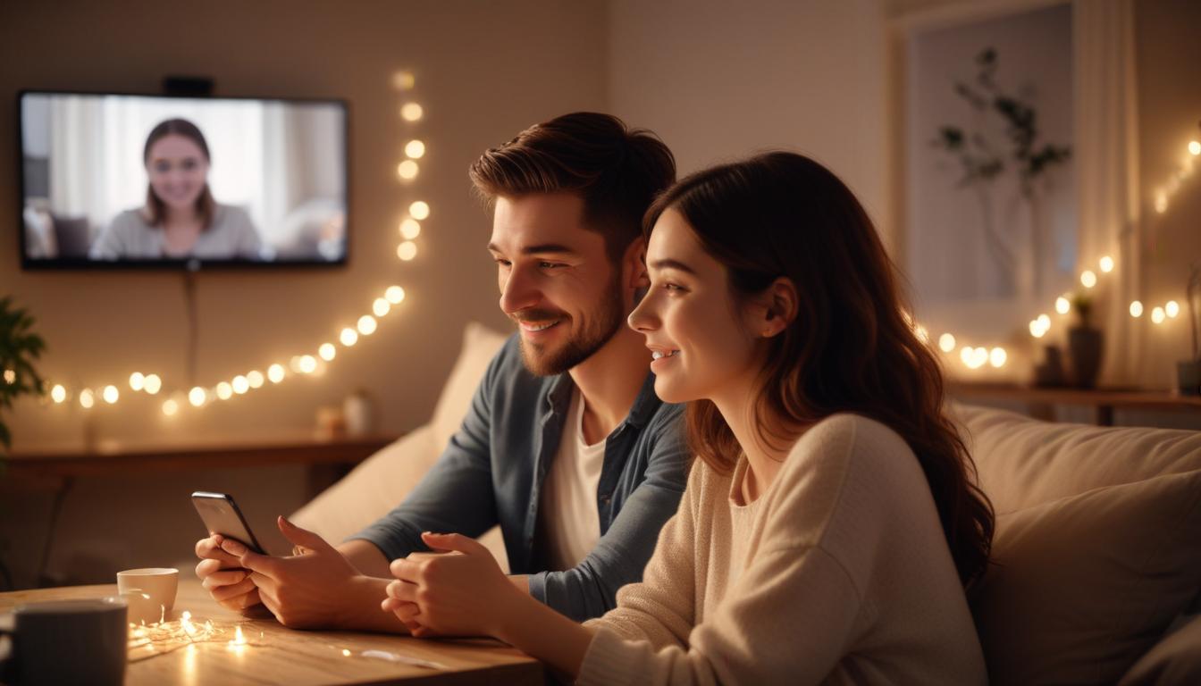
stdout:
[(681, 173), (793, 149), (884, 219), (879, 2), (614, 0), (609, 26), (609, 106), (657, 131)]

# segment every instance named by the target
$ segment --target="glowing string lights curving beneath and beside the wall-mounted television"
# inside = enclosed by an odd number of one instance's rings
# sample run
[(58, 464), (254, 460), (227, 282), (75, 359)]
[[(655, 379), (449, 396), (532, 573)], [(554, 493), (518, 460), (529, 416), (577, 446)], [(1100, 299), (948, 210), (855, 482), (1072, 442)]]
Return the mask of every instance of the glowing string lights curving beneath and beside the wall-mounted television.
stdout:
[[(392, 85), (408, 97), (408, 93), (414, 89), (417, 79), (412, 72), (399, 71), (392, 77)], [(424, 117), (422, 106), (412, 100), (406, 100), (400, 107), (400, 118), (412, 125)], [(408, 183), (417, 178), (420, 167), (417, 160), (425, 156), (428, 149), (425, 142), (418, 138), (410, 138), (404, 145), (405, 159), (396, 165), (396, 175), (401, 183)], [(404, 262), (417, 257), (417, 238), (422, 233), (422, 221), (430, 216), (430, 205), (425, 201), (413, 201), (410, 203), (407, 213), (399, 225), (401, 243), (396, 246), (396, 256)], [(370, 336), (381, 322), (392, 312), (396, 305), (405, 300), (406, 293), (401, 286), (389, 286), (383, 293), (370, 300), (370, 311), (353, 320), (353, 326), (343, 326), (337, 330), (336, 342), (342, 348), (351, 348), (360, 336)], [(313, 354), (316, 353), (316, 354)], [(267, 387), (267, 383), (279, 384), (289, 377), (309, 376), (324, 371), (325, 366), (334, 362), (340, 354), (337, 345), (331, 341), (318, 344), (312, 352), (303, 352), (292, 356), (287, 363), (281, 360), (271, 362), (263, 368), (251, 369), (244, 374), (238, 374), (233, 378), (219, 380), (210, 386), (195, 386), (190, 389), (177, 389), (169, 393), (162, 401), (161, 410), (167, 417), (174, 417), (185, 408), (202, 408), (215, 401), (227, 401), (239, 395), (247, 395), (252, 390)], [(264, 371), (265, 370), (265, 371)], [(143, 374), (135, 371), (130, 375), (127, 384), (102, 383), (95, 387), (72, 389), (65, 383), (53, 383), (50, 387), (50, 404), (64, 405), (72, 399), (77, 400), (84, 410), (91, 410), (102, 401), (107, 405), (116, 405), (123, 399), (123, 388), (127, 386), (132, 392), (130, 395), (144, 393), (157, 395), (165, 387), (165, 382), (159, 374)]]

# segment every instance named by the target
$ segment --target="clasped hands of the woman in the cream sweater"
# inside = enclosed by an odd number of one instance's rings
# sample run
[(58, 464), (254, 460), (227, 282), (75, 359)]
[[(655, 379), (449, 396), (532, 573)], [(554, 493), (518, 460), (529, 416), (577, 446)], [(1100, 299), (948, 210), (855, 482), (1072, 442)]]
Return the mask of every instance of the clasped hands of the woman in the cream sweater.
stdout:
[(479, 542), (459, 533), (422, 535), (432, 550), (394, 560), (395, 581), (381, 607), (395, 613), (419, 638), (497, 636), (521, 591)]

